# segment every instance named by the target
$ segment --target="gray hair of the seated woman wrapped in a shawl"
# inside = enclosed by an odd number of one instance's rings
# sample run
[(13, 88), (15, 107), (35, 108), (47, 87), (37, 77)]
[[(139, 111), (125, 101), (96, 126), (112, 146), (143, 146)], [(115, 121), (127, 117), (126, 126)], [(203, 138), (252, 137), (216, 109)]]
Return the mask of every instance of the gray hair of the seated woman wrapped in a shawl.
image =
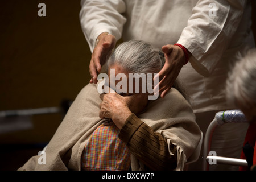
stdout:
[(151, 44), (130, 40), (119, 44), (106, 61), (106, 69), (114, 64), (130, 73), (158, 73), (164, 65), (164, 55)]

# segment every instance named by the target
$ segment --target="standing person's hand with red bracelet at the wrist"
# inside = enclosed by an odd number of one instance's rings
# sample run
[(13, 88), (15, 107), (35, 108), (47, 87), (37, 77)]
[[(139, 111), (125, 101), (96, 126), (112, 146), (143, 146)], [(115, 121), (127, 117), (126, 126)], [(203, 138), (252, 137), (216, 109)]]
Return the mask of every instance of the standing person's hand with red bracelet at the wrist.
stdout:
[[(172, 88), (181, 68), (185, 63), (185, 53), (179, 46), (166, 45), (162, 47), (166, 63), (158, 73), (159, 84), (155, 86), (159, 89), (159, 95), (163, 98), (166, 93)], [(188, 52), (189, 53), (189, 52)], [(191, 56), (191, 53), (189, 53)]]

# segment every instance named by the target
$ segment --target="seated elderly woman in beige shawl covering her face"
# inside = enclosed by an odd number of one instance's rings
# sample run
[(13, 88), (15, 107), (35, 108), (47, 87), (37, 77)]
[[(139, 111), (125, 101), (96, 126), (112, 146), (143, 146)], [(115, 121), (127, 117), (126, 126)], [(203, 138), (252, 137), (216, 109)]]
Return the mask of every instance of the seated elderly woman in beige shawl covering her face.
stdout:
[[(119, 73), (148, 78), (163, 64), (159, 50), (131, 40), (110, 55), (106, 71), (110, 78), (113, 69), (115, 78)], [(124, 79), (86, 85), (49, 142), (46, 164), (34, 156), (19, 170), (182, 170), (201, 137), (191, 106), (175, 88), (156, 100), (148, 100), (149, 92), (124, 92), (124, 87), (131, 91), (131, 84), (120, 86)], [(118, 85), (122, 92), (115, 90)], [(103, 86), (116, 92), (100, 94)]]

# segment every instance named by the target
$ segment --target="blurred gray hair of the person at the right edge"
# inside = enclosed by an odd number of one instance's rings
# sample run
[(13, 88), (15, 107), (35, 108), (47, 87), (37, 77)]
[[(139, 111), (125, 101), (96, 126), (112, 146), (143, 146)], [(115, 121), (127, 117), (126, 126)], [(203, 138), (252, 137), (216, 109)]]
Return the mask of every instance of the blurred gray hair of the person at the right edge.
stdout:
[[(241, 55), (240, 55), (241, 57)], [(226, 97), (230, 104), (256, 106), (256, 49), (241, 57), (226, 81)]]

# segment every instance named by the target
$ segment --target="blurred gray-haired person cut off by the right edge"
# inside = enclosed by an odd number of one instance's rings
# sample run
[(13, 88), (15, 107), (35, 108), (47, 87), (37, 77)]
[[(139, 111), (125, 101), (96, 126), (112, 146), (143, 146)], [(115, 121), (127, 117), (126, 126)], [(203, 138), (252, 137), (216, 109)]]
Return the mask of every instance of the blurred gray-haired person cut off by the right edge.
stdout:
[[(237, 62), (226, 82), (228, 101), (238, 107), (250, 121), (245, 136), (242, 159), (247, 159), (249, 168), (256, 170), (256, 49), (250, 49), (246, 56)], [(254, 152), (253, 152), (254, 151)]]

